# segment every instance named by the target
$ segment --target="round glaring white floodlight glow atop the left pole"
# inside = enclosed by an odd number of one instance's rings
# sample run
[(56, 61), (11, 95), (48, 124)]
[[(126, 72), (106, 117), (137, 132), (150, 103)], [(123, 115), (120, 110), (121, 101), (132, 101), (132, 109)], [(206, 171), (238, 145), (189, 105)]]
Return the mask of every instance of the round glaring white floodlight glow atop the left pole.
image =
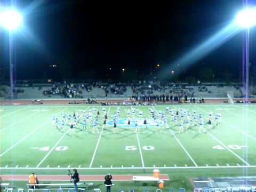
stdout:
[(15, 10), (6, 10), (0, 13), (0, 24), (9, 31), (17, 29), (22, 23), (22, 15)]

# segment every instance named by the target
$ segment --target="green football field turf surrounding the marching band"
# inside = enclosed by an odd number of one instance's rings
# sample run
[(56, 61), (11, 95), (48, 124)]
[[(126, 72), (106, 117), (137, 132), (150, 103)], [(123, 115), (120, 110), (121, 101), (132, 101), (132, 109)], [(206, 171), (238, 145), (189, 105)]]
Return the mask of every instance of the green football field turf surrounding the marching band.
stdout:
[[(256, 165), (256, 106), (255, 105), (170, 105), (170, 109), (187, 109), (190, 112), (197, 110), (197, 114), (208, 117), (209, 111), (222, 113), (222, 122), (214, 129), (206, 133), (198, 133), (198, 127), (179, 133), (179, 127), (173, 126), (169, 120), (171, 129), (162, 129), (161, 133), (155, 133), (155, 127), (148, 130), (140, 129), (137, 135), (134, 129), (118, 128), (118, 133), (113, 133), (113, 127), (106, 126), (102, 131), (102, 106), (96, 105), (68, 105), (68, 106), (3, 106), (0, 108), (0, 167), (26, 167), (27, 169), (1, 169), (1, 174), (29, 174), (32, 170), (37, 174), (66, 174), (70, 167), (94, 167), (99, 170), (79, 170), (80, 174), (151, 174), (154, 166), (163, 168), (161, 173), (170, 175), (167, 187), (185, 187), (192, 190), (188, 178), (191, 177), (215, 177), (255, 175), (255, 168), (244, 169), (238, 165)], [(60, 132), (52, 126), (51, 118), (65, 112), (73, 115), (75, 110), (82, 113), (82, 109), (91, 111), (100, 109), (101, 134), (92, 134), (89, 131), (76, 129), (75, 135)], [(138, 110), (143, 111), (143, 117), (151, 118), (148, 106), (136, 106), (135, 118), (140, 118)], [(107, 106), (109, 118), (115, 113), (117, 106)], [(126, 110), (130, 106), (121, 106), (121, 118), (127, 118)], [(164, 105), (154, 106), (156, 111), (165, 111)], [(170, 117), (170, 115), (169, 115)], [(82, 125), (79, 125), (80, 128)], [(208, 129), (207, 125), (205, 128)], [(175, 135), (175, 136), (174, 136)], [(132, 146), (136, 150), (125, 150), (126, 146)], [(154, 150), (145, 150), (152, 147)], [(219, 146), (222, 149), (214, 149)], [(247, 146), (242, 147), (241, 146)], [(31, 147), (45, 150), (31, 149)], [(56, 150), (66, 149), (66, 150)], [(140, 150), (141, 149), (141, 150)], [(238, 164), (238, 165), (237, 165)], [(132, 167), (149, 167), (151, 169), (133, 169)], [(196, 169), (191, 168), (198, 166)], [(237, 166), (229, 168), (229, 166)], [(37, 170), (34, 167), (63, 168)], [(103, 170), (111, 166), (115, 170)], [(122, 169), (130, 167), (129, 170)], [(188, 168), (186, 168), (188, 166)], [(225, 166), (225, 168), (207, 168), (207, 166)], [(199, 168), (204, 167), (204, 168)], [(181, 169), (182, 168), (182, 169)], [(24, 182), (14, 182), (13, 185), (24, 185)], [(23, 184), (22, 184), (23, 183)], [(150, 183), (143, 184), (151, 186)], [(142, 186), (142, 185), (141, 185)], [(103, 189), (103, 186), (100, 186)], [(118, 182), (116, 188), (134, 187), (130, 182)], [(140, 186), (137, 186), (140, 188)], [(142, 189), (142, 188), (141, 188)]]

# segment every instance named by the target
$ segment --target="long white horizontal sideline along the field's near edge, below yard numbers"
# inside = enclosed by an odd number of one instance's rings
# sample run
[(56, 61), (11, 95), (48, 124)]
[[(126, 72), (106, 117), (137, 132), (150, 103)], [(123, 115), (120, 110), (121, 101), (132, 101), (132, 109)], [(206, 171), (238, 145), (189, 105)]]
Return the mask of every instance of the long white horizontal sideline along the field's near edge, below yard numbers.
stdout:
[[(256, 168), (256, 165), (231, 166), (155, 166), (155, 167), (69, 167), (78, 170), (144, 170), (144, 169), (230, 169), (230, 168)], [(67, 170), (67, 167), (0, 167), (0, 170)]]

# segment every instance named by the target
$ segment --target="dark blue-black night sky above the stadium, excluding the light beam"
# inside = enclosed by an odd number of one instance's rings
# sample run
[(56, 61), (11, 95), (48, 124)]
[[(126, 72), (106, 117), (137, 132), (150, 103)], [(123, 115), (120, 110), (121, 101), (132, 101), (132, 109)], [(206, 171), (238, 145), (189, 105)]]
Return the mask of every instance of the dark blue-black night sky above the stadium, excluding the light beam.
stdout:
[[(6, 5), (10, 1), (0, 2)], [(25, 26), (14, 34), (16, 78), (57, 80), (144, 78), (150, 72), (157, 76), (173, 60), (228, 25), (242, 8), (242, 0), (13, 3), (25, 14)], [(0, 35), (0, 66), (7, 69), (7, 34), (1, 31)], [(253, 44), (253, 35), (251, 40)], [(251, 60), (255, 64), (255, 57)], [(160, 69), (155, 68), (157, 63)], [(239, 33), (181, 77), (198, 76), (198, 68), (211, 68), (219, 77), (223, 71), (237, 76), (241, 63)]]

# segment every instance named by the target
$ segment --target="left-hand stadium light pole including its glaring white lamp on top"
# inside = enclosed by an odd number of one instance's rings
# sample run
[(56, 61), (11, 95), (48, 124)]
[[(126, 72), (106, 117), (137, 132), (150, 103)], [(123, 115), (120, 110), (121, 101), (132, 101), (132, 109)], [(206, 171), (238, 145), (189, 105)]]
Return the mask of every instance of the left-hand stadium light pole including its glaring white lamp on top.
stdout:
[(9, 31), (9, 59), (10, 59), (10, 98), (13, 99), (13, 56), (12, 43), (13, 31), (16, 30), (22, 23), (22, 15), (14, 10), (7, 9), (0, 12), (0, 25)]

